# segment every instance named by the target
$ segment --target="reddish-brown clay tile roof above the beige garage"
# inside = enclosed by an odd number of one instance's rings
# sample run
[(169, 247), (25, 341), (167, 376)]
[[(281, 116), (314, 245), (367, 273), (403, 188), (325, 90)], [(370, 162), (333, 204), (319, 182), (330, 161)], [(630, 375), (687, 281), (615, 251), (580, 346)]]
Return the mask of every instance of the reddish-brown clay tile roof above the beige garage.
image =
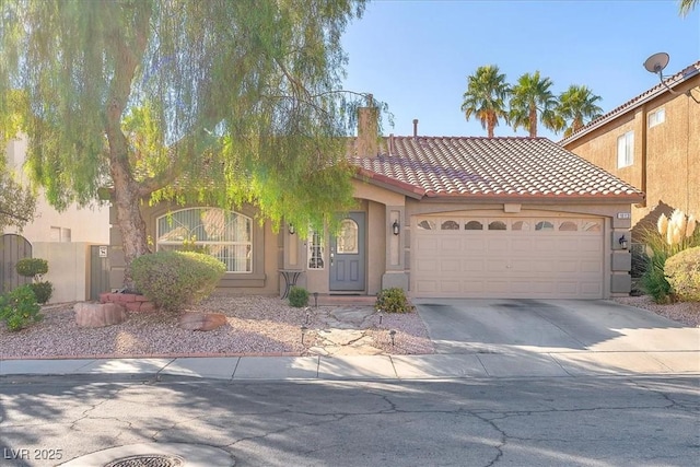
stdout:
[(417, 197), (640, 202), (644, 196), (546, 138), (389, 137), (381, 147), (375, 157), (350, 156), (360, 176)]

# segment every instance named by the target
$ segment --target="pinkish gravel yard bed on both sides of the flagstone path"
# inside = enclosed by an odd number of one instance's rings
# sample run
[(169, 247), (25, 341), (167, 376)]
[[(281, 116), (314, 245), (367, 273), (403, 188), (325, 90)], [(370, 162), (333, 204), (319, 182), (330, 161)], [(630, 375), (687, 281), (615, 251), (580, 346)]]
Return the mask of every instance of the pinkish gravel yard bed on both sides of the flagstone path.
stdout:
[[(294, 308), (278, 297), (245, 295), (211, 296), (188, 310), (223, 313), (228, 323), (211, 331), (190, 331), (178, 327), (177, 314), (151, 312), (132, 313), (119, 325), (80, 328), (72, 303), (50, 305), (44, 307), (40, 323), (22, 331), (10, 332), (0, 324), (0, 358), (307, 355), (322, 343), (318, 332), (332, 319), (334, 307)], [(302, 325), (307, 328), (303, 345)], [(381, 353), (433, 353), (417, 313), (384, 315), (382, 324), (375, 314), (363, 326)], [(394, 345), (389, 329), (396, 330)]]

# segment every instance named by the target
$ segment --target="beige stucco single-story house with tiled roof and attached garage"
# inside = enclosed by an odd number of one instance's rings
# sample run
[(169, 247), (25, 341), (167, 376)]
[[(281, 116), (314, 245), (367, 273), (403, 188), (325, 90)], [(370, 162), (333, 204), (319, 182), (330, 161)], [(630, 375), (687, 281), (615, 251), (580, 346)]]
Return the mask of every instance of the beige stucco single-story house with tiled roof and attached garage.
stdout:
[[(375, 115), (360, 110), (349, 154), (359, 208), (337, 236), (275, 233), (253, 207), (156, 205), (143, 210), (155, 248), (196, 236), (226, 264), (220, 289), (232, 293), (284, 294), (291, 281), (322, 295), (390, 287), (412, 297), (629, 293), (640, 190), (545, 138), (377, 138)], [(118, 288), (121, 240), (112, 232)]]

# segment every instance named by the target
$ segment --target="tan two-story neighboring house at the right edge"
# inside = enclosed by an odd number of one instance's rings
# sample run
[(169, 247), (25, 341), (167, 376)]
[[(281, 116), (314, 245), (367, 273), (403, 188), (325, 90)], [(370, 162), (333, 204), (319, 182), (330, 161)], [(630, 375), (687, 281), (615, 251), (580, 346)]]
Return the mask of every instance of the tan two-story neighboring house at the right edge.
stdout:
[(633, 240), (662, 212), (700, 215), (700, 61), (560, 144), (646, 194), (632, 207)]

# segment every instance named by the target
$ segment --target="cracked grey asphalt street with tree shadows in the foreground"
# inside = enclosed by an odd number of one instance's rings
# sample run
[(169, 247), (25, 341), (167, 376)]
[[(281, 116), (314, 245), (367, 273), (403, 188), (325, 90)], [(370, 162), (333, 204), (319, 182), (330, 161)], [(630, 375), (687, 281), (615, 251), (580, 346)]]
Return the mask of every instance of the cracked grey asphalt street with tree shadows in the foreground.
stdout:
[(18, 375), (0, 380), (0, 465), (81, 465), (100, 450), (186, 443), (221, 448), (236, 466), (685, 467), (700, 458), (699, 394), (697, 376)]

